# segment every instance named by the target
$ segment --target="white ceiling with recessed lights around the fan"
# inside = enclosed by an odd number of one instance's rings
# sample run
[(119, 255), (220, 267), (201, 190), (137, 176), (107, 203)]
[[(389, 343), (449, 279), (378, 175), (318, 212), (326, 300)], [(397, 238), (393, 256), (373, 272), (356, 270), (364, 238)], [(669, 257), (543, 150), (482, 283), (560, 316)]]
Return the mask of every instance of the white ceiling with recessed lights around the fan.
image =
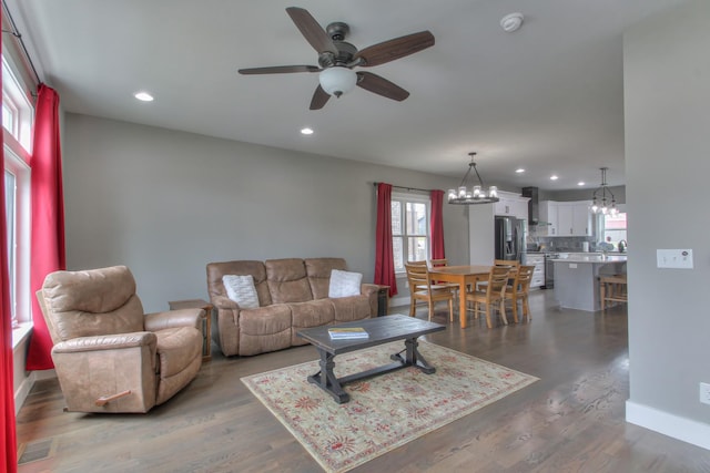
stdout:
[[(9, 0), (41, 79), (69, 112), (557, 191), (623, 184), (622, 32), (682, 0)], [(358, 49), (429, 30), (433, 48), (369, 69), (410, 92), (356, 88), (310, 111), (317, 64), (285, 12), (344, 21)], [(506, 33), (500, 19), (525, 14)], [(146, 90), (152, 103), (133, 99)], [(298, 133), (311, 126), (315, 134)], [(521, 175), (517, 167), (526, 168)], [(559, 179), (551, 182), (550, 174)]]

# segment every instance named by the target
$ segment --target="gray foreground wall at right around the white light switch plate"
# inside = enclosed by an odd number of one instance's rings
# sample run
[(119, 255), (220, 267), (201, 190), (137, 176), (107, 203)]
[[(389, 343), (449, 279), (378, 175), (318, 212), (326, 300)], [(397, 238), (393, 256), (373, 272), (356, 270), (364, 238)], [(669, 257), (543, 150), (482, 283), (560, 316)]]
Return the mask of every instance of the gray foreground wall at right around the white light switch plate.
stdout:
[[(629, 240), (627, 419), (710, 449), (710, 1), (625, 35)], [(658, 269), (657, 248), (691, 248), (694, 269)], [(693, 441), (693, 439), (688, 439)]]

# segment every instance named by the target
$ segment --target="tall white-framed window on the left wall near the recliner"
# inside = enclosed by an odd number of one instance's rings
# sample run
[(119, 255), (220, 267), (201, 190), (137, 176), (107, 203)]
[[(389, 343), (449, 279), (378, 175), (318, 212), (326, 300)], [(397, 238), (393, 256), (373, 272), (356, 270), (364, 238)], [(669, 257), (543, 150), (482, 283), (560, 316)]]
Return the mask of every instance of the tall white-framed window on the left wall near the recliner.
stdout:
[(2, 58), (2, 133), (8, 273), (12, 326), (31, 322), (30, 146), (34, 110), (6, 58)]

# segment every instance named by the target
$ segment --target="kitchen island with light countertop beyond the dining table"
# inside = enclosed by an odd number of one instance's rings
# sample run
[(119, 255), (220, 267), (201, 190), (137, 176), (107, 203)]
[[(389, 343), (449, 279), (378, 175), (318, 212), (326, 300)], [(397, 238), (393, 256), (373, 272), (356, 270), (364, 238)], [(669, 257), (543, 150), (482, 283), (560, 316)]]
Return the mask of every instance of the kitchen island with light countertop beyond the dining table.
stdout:
[(568, 309), (601, 309), (599, 275), (626, 274), (626, 255), (569, 254), (552, 259), (555, 299)]

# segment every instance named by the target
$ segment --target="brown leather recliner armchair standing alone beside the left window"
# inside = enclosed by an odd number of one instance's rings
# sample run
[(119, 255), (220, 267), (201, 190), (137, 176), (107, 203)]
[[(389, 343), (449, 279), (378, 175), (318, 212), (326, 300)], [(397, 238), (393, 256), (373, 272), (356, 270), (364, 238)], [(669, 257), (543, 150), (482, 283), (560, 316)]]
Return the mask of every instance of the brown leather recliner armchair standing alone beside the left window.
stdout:
[(125, 266), (52, 273), (37, 297), (69, 411), (148, 412), (200, 371), (202, 310), (144, 315)]

